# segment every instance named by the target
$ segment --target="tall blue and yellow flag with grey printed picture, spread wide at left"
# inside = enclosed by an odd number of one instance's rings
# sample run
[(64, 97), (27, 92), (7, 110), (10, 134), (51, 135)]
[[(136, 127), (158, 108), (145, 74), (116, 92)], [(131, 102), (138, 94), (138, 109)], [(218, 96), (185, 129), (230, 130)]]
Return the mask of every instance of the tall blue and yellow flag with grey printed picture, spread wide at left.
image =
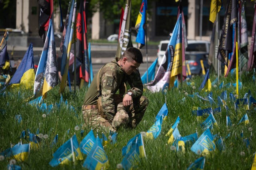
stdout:
[(34, 96), (46, 97), (46, 92), (58, 84), (58, 69), (54, 40), (54, 27), (50, 19), (44, 49), (42, 51), (34, 83)]

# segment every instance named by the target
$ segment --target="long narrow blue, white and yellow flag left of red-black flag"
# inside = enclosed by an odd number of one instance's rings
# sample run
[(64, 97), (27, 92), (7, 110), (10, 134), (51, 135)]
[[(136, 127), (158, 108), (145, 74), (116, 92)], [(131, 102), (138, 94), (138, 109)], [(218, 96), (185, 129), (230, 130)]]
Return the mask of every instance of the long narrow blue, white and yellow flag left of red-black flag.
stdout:
[(62, 93), (66, 87), (66, 81), (68, 78), (68, 67), (69, 67), (69, 59), (70, 59), (70, 50), (73, 38), (73, 31), (74, 31), (74, 23), (76, 18), (76, 0), (70, 1), (69, 11), (68, 11), (68, 25), (63, 45), (63, 53), (62, 53), (62, 61), (61, 61), (61, 72), (62, 79), (60, 82), (60, 90), (59, 92)]

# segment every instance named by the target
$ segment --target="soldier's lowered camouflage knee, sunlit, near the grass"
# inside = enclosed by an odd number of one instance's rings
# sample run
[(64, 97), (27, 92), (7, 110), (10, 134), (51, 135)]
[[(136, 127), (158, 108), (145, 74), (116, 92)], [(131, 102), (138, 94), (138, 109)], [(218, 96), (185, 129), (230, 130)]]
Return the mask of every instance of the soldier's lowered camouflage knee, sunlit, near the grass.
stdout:
[(112, 127), (114, 129), (121, 127), (123, 125), (127, 125), (129, 122), (129, 115), (125, 110), (120, 110), (116, 113), (114, 116), (114, 119), (112, 121)]

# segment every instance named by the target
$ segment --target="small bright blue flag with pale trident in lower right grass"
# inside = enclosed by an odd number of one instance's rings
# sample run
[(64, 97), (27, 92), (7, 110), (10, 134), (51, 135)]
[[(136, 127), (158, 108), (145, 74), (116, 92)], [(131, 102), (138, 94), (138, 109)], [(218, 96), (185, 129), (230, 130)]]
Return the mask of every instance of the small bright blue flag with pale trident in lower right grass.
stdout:
[(215, 143), (213, 141), (210, 129), (206, 129), (198, 140), (192, 145), (191, 150), (196, 154), (208, 154), (210, 151), (215, 150)]

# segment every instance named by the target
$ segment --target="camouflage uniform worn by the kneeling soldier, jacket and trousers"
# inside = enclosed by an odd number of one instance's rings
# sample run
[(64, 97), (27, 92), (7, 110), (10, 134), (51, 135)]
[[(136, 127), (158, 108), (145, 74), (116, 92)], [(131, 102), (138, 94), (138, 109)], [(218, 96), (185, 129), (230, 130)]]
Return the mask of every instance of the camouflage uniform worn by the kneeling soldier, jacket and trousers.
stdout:
[[(99, 97), (99, 92), (97, 91), (97, 76), (101, 87), (101, 97)], [(111, 130), (123, 125), (132, 128), (136, 127), (148, 106), (148, 99), (142, 96), (143, 85), (140, 73), (137, 71), (127, 75), (117, 61), (113, 60), (105, 64), (98, 71), (97, 76), (92, 80), (82, 106), (85, 125), (103, 126)], [(133, 104), (126, 107), (122, 104), (125, 92), (124, 82), (130, 84), (131, 89), (128, 91), (133, 94)], [(116, 94), (118, 90), (120, 94)], [(86, 108), (87, 106), (89, 107)], [(93, 108), (90, 108), (90, 106)]]

